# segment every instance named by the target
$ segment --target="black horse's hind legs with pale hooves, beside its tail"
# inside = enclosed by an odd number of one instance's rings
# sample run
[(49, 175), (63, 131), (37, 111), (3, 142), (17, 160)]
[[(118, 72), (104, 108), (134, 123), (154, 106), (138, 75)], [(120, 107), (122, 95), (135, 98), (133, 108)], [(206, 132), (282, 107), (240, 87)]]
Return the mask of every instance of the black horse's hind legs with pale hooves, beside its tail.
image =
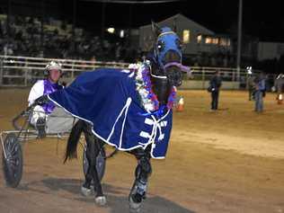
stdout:
[(89, 164), (87, 173), (85, 175), (85, 182), (82, 186), (82, 192), (84, 195), (91, 194), (91, 182), (93, 180), (95, 194), (95, 202), (99, 205), (104, 205), (106, 203), (106, 198), (102, 192), (102, 184), (99, 179), (98, 172), (96, 170), (96, 158), (100, 153), (101, 143), (97, 138), (93, 136), (90, 126), (84, 131), (84, 137), (86, 140), (86, 158)]

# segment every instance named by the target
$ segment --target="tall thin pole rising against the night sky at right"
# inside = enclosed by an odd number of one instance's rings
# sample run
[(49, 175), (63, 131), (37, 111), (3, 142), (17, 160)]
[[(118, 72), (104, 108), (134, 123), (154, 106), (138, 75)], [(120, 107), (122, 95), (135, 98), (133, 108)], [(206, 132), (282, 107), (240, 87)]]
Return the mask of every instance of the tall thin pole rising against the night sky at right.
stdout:
[(243, 19), (243, 0), (239, 0), (239, 13), (238, 13), (238, 25), (237, 25), (237, 54), (236, 54), (237, 81), (240, 81), (240, 71), (241, 71), (242, 19)]

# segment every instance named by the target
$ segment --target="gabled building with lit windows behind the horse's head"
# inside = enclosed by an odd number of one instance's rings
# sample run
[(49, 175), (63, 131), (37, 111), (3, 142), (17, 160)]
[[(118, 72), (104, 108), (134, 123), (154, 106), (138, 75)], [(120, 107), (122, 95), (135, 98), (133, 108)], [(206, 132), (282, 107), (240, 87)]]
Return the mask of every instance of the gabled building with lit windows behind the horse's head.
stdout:
[[(161, 27), (173, 27), (173, 23), (175, 23), (177, 34), (182, 40), (183, 53), (189, 64), (227, 67), (228, 59), (233, 54), (230, 36), (210, 31), (181, 13), (158, 22)], [(151, 24), (141, 26), (139, 28), (140, 49), (147, 52), (153, 42)]]

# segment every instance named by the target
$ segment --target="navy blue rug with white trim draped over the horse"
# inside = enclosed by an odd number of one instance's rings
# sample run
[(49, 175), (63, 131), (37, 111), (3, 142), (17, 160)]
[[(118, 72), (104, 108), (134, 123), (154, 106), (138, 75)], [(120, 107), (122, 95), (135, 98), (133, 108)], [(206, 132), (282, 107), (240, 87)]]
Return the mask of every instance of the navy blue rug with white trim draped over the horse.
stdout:
[(141, 105), (129, 70), (102, 68), (79, 75), (65, 89), (49, 94), (52, 102), (93, 125), (93, 134), (119, 150), (152, 144), (151, 155), (164, 158), (172, 129), (172, 110), (161, 118)]

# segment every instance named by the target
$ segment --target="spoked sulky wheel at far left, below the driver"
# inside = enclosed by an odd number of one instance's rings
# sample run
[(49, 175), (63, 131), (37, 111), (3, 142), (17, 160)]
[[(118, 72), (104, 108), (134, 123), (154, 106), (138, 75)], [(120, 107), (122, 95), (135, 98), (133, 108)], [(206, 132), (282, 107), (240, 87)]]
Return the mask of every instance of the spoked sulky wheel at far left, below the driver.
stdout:
[(17, 187), (22, 179), (22, 147), (15, 134), (9, 133), (4, 138), (3, 170), (6, 185)]

